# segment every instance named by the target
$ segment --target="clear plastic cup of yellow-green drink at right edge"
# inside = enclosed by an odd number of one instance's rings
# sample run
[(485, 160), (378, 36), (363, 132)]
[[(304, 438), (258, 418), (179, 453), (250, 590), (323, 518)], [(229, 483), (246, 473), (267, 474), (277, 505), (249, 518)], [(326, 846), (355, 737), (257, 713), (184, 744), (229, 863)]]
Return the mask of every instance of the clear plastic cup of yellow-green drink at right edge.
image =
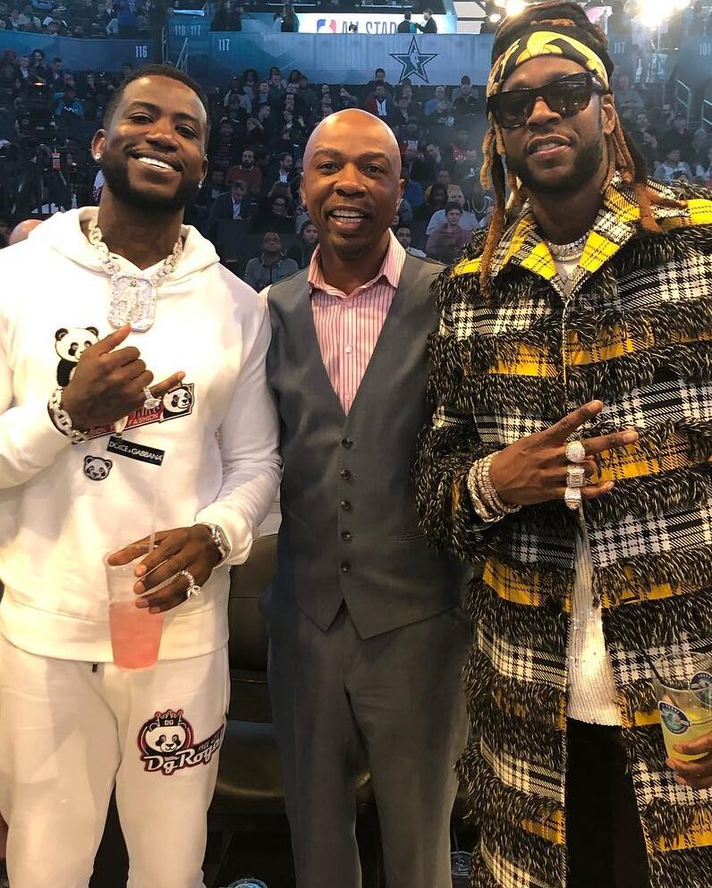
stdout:
[(665, 749), (682, 762), (707, 753), (683, 756), (677, 743), (691, 743), (712, 732), (712, 656), (681, 651), (654, 661), (657, 710)]

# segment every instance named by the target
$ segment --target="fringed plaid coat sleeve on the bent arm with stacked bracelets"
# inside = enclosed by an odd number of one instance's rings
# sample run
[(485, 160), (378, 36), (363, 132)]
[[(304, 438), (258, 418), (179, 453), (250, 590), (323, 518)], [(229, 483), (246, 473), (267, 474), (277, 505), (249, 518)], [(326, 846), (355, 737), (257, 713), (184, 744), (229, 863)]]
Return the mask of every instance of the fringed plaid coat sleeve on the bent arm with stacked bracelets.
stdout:
[(473, 462), (495, 448), (479, 439), (463, 385), (470, 363), (469, 340), (456, 338), (446, 309), (429, 345), (428, 398), (433, 417), (420, 434), (414, 468), (420, 522), (438, 550), (464, 562), (478, 562), (493, 545), (499, 525), (485, 524), (475, 512), (468, 475)]

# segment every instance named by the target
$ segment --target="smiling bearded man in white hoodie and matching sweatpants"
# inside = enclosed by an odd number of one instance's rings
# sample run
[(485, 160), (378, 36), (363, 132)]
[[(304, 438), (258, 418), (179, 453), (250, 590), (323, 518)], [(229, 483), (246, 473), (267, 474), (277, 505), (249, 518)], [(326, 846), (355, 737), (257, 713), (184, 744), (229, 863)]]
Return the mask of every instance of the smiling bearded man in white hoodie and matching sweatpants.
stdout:
[[(182, 225), (206, 170), (204, 98), (169, 66), (117, 93), (93, 142), (98, 211), (54, 216), (0, 255), (0, 817), (13, 888), (88, 883), (114, 783), (131, 888), (202, 884), (229, 695), (228, 565), (247, 558), (279, 475), (265, 308)], [(146, 555), (137, 537), (152, 525)], [(109, 552), (139, 559), (137, 594), (161, 587), (137, 605), (165, 612), (150, 670), (112, 662)]]

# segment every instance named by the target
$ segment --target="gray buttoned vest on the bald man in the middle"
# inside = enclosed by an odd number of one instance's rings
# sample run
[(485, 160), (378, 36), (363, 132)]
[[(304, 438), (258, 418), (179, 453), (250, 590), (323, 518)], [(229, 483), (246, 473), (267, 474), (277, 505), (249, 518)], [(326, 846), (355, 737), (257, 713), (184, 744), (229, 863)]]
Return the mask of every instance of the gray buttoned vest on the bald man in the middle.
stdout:
[(263, 601), (326, 630), (345, 601), (361, 638), (459, 605), (467, 571), (426, 545), (411, 483), (426, 399), (430, 285), (442, 266), (408, 256), (348, 416), (321, 358), (308, 270), (269, 290), (284, 459), (277, 571)]

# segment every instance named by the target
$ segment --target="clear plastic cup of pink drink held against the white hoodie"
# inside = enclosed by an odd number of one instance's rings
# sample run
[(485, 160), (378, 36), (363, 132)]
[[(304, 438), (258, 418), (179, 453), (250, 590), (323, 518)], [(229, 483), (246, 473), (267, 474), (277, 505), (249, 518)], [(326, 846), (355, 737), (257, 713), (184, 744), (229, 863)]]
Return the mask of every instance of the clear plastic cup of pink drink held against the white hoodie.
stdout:
[[(158, 659), (163, 631), (163, 613), (148, 613), (137, 607), (133, 591), (137, 577), (135, 561), (114, 567), (105, 560), (109, 595), (109, 630), (114, 663), (122, 669), (150, 669)], [(155, 590), (151, 590), (155, 591)]]

